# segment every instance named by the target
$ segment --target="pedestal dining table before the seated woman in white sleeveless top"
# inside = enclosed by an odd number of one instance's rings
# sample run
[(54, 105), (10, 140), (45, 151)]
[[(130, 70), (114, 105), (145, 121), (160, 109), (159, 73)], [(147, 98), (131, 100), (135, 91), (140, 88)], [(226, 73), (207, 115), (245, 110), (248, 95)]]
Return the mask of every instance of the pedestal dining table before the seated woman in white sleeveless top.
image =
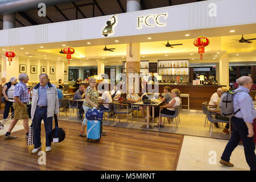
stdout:
[(155, 125), (150, 125), (150, 107), (152, 107), (152, 121), (154, 121), (154, 107), (158, 107), (163, 103), (162, 100), (160, 99), (156, 99), (156, 100), (151, 100), (150, 104), (144, 104), (143, 101), (139, 101), (139, 102), (135, 102), (133, 103), (134, 106), (146, 106), (147, 107), (147, 124), (146, 125), (142, 125), (141, 129), (154, 129)]

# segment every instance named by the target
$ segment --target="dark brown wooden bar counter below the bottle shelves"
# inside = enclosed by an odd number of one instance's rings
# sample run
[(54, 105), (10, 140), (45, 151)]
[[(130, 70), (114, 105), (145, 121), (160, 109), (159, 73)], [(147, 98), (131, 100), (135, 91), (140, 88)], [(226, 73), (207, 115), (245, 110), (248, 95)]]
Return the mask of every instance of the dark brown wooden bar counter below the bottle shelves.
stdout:
[[(154, 86), (156, 86), (155, 84)], [(85, 87), (89, 86), (89, 84), (85, 84)], [(98, 84), (97, 84), (98, 86)], [(154, 89), (152, 86), (152, 89)], [(171, 89), (179, 89), (180, 93), (189, 94), (189, 109), (193, 110), (202, 110), (202, 103), (210, 101), (210, 97), (213, 93), (217, 92), (218, 88), (226, 85), (192, 85), (192, 84), (158, 84), (159, 93), (163, 93), (164, 86), (170, 86)], [(109, 90), (112, 90), (109, 84)], [(140, 89), (141, 90), (141, 89)], [(182, 98), (182, 102), (184, 105), (188, 105), (188, 99)], [(183, 109), (187, 109), (187, 106), (184, 106)]]

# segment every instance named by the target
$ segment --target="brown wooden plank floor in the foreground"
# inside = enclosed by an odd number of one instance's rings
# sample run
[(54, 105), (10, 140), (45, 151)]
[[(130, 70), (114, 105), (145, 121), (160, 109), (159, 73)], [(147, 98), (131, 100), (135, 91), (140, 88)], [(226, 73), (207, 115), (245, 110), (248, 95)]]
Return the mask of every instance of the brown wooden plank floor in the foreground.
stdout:
[[(54, 125), (54, 124), (53, 124)], [(46, 165), (27, 146), (24, 130), (12, 133), (18, 138), (0, 137), (0, 170), (176, 170), (183, 135), (104, 126), (108, 133), (100, 142), (79, 137), (80, 122), (59, 121), (66, 138), (53, 143), (46, 152)], [(42, 150), (45, 133), (42, 125)]]

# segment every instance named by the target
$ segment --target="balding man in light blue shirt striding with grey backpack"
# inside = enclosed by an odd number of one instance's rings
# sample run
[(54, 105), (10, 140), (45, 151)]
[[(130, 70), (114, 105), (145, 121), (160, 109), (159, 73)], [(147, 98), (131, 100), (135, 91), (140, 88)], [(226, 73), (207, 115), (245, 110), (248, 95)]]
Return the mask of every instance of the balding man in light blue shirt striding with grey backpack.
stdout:
[(232, 137), (225, 147), (220, 163), (228, 167), (234, 166), (229, 162), (230, 156), (242, 139), (246, 162), (251, 171), (256, 171), (255, 143), (253, 141), (253, 120), (256, 117), (256, 111), (249, 94), (253, 80), (249, 76), (242, 76), (238, 78), (238, 85), (236, 90), (243, 90), (243, 92), (238, 92), (233, 96), (234, 112), (237, 111), (237, 113), (231, 118)]

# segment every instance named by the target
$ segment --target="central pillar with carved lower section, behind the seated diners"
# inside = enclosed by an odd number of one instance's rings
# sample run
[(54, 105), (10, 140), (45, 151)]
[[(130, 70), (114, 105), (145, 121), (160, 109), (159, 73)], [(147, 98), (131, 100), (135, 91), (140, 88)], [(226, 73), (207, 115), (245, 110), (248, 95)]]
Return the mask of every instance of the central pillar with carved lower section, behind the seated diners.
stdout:
[(126, 80), (127, 92), (139, 93), (139, 72), (141, 61), (141, 44), (127, 44), (126, 49)]

